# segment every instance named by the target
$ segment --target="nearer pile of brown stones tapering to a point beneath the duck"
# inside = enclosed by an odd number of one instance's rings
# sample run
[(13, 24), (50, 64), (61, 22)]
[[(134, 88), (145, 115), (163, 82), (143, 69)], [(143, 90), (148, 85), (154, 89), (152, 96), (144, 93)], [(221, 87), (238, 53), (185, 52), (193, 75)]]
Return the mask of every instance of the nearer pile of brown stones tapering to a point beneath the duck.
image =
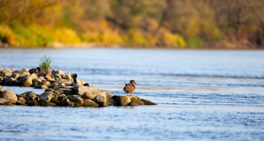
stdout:
[(83, 85), (57, 86), (39, 95), (34, 91), (15, 94), (7, 89), (2, 92), (0, 86), (0, 105), (105, 107), (156, 105), (156, 103), (140, 99), (138, 96), (117, 96), (105, 90)]

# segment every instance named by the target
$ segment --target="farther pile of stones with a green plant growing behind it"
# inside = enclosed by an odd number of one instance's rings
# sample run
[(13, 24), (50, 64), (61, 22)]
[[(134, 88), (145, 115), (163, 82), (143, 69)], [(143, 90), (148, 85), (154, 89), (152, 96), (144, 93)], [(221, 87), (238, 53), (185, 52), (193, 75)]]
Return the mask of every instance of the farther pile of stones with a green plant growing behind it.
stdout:
[[(29, 69), (13, 70), (0, 68), (0, 85), (48, 89), (58, 85), (70, 85), (73, 81), (72, 75), (69, 74), (69, 72), (64, 73), (57, 69), (40, 70), (37, 74), (30, 74), (28, 70)], [(85, 83), (78, 79), (77, 82), (79, 85)]]

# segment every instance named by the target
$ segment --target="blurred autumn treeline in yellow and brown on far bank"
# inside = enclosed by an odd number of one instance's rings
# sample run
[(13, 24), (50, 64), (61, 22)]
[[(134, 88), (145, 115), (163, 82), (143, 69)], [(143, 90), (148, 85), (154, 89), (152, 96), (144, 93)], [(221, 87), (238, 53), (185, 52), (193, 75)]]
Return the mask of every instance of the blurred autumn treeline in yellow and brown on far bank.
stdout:
[(263, 7), (263, 0), (0, 0), (0, 42), (261, 48)]

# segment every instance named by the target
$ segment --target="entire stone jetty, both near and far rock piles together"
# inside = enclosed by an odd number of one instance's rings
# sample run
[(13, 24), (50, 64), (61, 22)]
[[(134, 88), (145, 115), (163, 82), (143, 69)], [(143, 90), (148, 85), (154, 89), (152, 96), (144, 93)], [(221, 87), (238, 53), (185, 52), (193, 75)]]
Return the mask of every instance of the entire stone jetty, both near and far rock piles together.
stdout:
[[(79, 85), (72, 86), (72, 82), (72, 74), (56, 69), (30, 74), (28, 69), (0, 68), (0, 105), (72, 107), (156, 105), (135, 95), (118, 96), (106, 90), (84, 86), (85, 82), (79, 79), (77, 79)], [(15, 94), (9, 89), (2, 90), (1, 85), (33, 87), (45, 91), (42, 94), (36, 94), (34, 91)]]

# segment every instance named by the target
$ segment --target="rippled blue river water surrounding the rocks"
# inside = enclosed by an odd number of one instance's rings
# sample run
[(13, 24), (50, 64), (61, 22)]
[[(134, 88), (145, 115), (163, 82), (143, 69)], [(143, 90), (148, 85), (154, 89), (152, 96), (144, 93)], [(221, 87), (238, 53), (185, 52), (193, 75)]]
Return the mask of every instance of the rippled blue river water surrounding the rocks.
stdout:
[(158, 105), (0, 106), (1, 140), (264, 140), (264, 51), (0, 49), (0, 67), (33, 68), (44, 55), (114, 94), (135, 79), (134, 94)]

